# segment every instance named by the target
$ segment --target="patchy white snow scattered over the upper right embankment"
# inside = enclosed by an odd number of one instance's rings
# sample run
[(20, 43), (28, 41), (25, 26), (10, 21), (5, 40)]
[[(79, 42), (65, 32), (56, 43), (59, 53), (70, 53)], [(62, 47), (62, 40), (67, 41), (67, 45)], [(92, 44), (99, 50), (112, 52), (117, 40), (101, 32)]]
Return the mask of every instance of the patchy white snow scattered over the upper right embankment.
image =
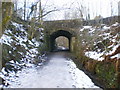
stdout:
[[(114, 53), (115, 52), (115, 50), (116, 50), (116, 48), (120, 45), (119, 43), (120, 43), (120, 41), (119, 40), (117, 40), (118, 39), (118, 37), (119, 37), (119, 34), (118, 33), (114, 33), (113, 34), (113, 32), (114, 31), (112, 31), (112, 26), (113, 26), (113, 28), (114, 27), (119, 27), (119, 23), (118, 22), (116, 22), (116, 23), (114, 23), (113, 25), (102, 25), (101, 24), (101, 26), (100, 27), (97, 27), (97, 28), (95, 28), (95, 27), (92, 27), (92, 26), (84, 26), (80, 31), (80, 33), (82, 33), (82, 31), (84, 31), (85, 30), (85, 28), (86, 29), (88, 29), (89, 31), (88, 32), (86, 32), (85, 34), (89, 34), (89, 36), (90, 35), (92, 35), (93, 37), (94, 37), (94, 40), (95, 41), (93, 41), (93, 45), (96, 47), (96, 49), (97, 49), (97, 52), (96, 51), (94, 51), (95, 49), (93, 49), (93, 51), (91, 50), (91, 51), (87, 51), (87, 52), (85, 52), (85, 55), (87, 56), (87, 57), (89, 57), (89, 58), (92, 58), (92, 59), (94, 59), (94, 60), (98, 60), (98, 61), (102, 61), (104, 58), (103, 57), (101, 57), (101, 56), (103, 56), (103, 55), (110, 55), (110, 54), (112, 54), (112, 53)], [(98, 31), (99, 30), (99, 31)], [(98, 35), (98, 37), (96, 36), (96, 35)], [(84, 36), (84, 34), (80, 34), (80, 36)], [(96, 38), (96, 39), (95, 39)], [(98, 38), (98, 40), (97, 40), (97, 38)], [(100, 38), (100, 39), (99, 39)], [(87, 39), (87, 37), (84, 37), (83, 39)], [(108, 48), (107, 50), (108, 51), (105, 51), (105, 50), (102, 50), (102, 49), (100, 49), (99, 47), (97, 47), (96, 45), (98, 44), (98, 43), (102, 43), (102, 41), (103, 40), (109, 40), (110, 42), (111, 42), (111, 45), (108, 45), (108, 46), (106, 46), (106, 48)], [(108, 42), (109, 42), (108, 41)], [(86, 42), (87, 43), (87, 42)], [(91, 46), (92, 44), (90, 44), (90, 43), (88, 43), (89, 45), (88, 46)], [(107, 44), (107, 43), (106, 43)], [(109, 44), (109, 43), (108, 43)], [(117, 44), (117, 45), (116, 45)], [(87, 48), (87, 47), (86, 47)], [(111, 50), (112, 49), (112, 50)], [(119, 58), (120, 57), (120, 55), (119, 54), (117, 54), (117, 55), (115, 55), (115, 56), (112, 56), (111, 58), (114, 58), (114, 57), (117, 57), (117, 58)]]

